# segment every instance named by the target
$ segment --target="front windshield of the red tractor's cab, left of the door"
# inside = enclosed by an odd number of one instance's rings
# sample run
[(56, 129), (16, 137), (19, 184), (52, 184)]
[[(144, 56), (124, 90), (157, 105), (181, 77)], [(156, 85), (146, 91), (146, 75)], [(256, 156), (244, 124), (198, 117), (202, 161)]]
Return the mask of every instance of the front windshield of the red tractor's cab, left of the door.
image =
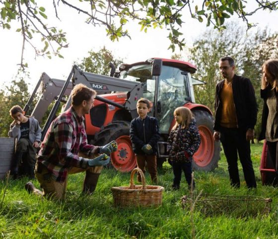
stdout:
[(126, 71), (121, 71), (120, 78), (144, 83), (143, 97), (154, 102), (155, 78), (151, 76), (151, 65), (137, 65)]

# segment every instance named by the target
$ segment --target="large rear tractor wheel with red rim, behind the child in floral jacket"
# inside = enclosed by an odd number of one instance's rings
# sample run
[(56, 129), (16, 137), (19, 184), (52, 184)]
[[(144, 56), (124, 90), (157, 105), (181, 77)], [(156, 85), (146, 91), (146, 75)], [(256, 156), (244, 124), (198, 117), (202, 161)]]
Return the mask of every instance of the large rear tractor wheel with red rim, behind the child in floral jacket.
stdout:
[(218, 166), (220, 159), (220, 141), (213, 140), (213, 118), (206, 111), (193, 110), (201, 144), (193, 156), (193, 168), (195, 170), (212, 171)]

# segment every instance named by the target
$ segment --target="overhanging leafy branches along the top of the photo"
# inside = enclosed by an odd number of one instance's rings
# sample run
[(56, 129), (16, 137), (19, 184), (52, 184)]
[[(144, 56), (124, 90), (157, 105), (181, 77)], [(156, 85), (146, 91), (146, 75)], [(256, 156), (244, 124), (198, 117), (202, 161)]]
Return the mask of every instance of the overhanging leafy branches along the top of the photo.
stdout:
[[(225, 29), (225, 20), (235, 14), (246, 22), (247, 27), (253, 26), (248, 16), (260, 9), (270, 11), (278, 9), (278, 1), (255, 0), (257, 7), (246, 11), (245, 0), (52, 0), (52, 7), (46, 8), (43, 1), (38, 0), (0, 0), (0, 26), (13, 28), (22, 35), (21, 67), (24, 63), (25, 44), (29, 43), (36, 55), (60, 54), (62, 48), (68, 47), (66, 33), (62, 29), (47, 24), (48, 14), (54, 11), (60, 19), (61, 8), (68, 7), (83, 14), (85, 22), (93, 26), (106, 28), (108, 37), (118, 40), (120, 37), (131, 37), (126, 23), (136, 21), (141, 31), (147, 32), (150, 27), (166, 27), (173, 51), (175, 46), (180, 49), (185, 39), (180, 31), (183, 25), (183, 14), (189, 14), (198, 21), (205, 21), (217, 29)], [(74, 2), (74, 3), (72, 3)], [(34, 43), (34, 36), (39, 35), (44, 46), (42, 49)]]

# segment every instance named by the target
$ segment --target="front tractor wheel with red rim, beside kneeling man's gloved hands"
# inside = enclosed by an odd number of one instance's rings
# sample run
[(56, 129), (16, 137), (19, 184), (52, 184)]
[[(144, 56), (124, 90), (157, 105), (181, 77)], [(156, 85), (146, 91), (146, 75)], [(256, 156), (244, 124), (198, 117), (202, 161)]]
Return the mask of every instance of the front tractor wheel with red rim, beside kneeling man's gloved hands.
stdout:
[(130, 122), (114, 121), (107, 124), (96, 133), (93, 144), (103, 146), (112, 140), (116, 140), (118, 144), (117, 151), (110, 156), (113, 167), (121, 172), (132, 171), (137, 162), (130, 140)]

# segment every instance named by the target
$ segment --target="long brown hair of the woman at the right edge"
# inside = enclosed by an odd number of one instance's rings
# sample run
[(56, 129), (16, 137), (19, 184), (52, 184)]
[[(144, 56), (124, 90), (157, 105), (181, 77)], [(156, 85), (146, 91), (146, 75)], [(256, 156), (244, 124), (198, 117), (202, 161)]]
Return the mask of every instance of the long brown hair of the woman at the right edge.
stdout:
[[(278, 92), (278, 60), (268, 60), (262, 65), (262, 70), (265, 67), (267, 74), (273, 80), (272, 89), (276, 89)], [(264, 79), (264, 74), (262, 75), (262, 89), (266, 89), (270, 85), (269, 82), (266, 82)]]

